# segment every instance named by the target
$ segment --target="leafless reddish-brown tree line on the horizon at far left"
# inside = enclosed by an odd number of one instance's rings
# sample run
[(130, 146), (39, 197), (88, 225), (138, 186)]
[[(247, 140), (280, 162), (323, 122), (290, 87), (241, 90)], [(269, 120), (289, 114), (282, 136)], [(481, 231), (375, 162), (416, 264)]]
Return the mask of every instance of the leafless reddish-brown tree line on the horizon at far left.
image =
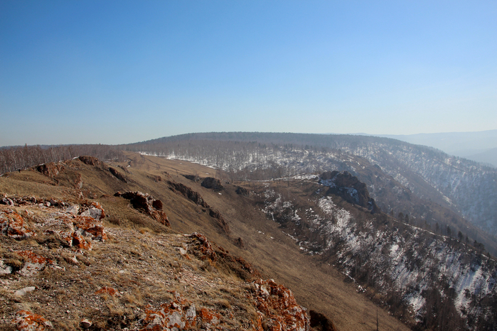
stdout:
[(122, 151), (110, 145), (14, 146), (0, 149), (0, 173), (82, 155), (95, 156), (102, 160), (124, 161)]

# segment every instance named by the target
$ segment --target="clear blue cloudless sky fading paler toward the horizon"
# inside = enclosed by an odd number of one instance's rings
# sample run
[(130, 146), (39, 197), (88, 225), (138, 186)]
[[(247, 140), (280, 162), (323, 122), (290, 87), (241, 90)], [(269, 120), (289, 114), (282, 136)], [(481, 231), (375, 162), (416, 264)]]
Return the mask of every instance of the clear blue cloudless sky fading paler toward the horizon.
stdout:
[(490, 129), (495, 0), (0, 0), (0, 146)]

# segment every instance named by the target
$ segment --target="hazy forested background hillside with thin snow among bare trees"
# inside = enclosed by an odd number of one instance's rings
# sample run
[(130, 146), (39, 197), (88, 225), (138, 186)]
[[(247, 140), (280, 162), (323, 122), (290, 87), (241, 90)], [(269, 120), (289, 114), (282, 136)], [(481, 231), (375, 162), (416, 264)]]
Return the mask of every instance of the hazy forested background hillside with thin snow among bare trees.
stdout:
[(370, 136), (262, 133), (188, 134), (127, 148), (220, 168), (230, 180), (346, 170), (383, 211), (441, 234), (449, 227), (497, 254), (497, 170), (433, 148)]

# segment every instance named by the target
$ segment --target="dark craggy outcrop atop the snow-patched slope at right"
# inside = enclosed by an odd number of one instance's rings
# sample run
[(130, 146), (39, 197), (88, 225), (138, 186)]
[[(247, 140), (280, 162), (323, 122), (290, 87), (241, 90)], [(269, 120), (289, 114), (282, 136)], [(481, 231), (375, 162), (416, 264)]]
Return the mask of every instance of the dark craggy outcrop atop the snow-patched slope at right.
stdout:
[(369, 196), (368, 187), (348, 171), (326, 171), (321, 174), (319, 183), (329, 186), (326, 195), (338, 195), (343, 200), (378, 212), (375, 200)]

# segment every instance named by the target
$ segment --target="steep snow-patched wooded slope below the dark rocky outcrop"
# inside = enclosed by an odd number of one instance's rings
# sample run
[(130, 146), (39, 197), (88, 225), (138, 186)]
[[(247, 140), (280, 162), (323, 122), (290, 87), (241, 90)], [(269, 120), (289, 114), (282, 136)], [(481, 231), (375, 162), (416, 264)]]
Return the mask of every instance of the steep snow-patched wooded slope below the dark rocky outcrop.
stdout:
[(339, 175), (309, 178), (305, 190), (267, 186), (260, 205), (302, 251), (341, 268), (415, 330), (495, 330), (496, 261), (462, 238), (375, 213), (355, 198), (367, 191)]

